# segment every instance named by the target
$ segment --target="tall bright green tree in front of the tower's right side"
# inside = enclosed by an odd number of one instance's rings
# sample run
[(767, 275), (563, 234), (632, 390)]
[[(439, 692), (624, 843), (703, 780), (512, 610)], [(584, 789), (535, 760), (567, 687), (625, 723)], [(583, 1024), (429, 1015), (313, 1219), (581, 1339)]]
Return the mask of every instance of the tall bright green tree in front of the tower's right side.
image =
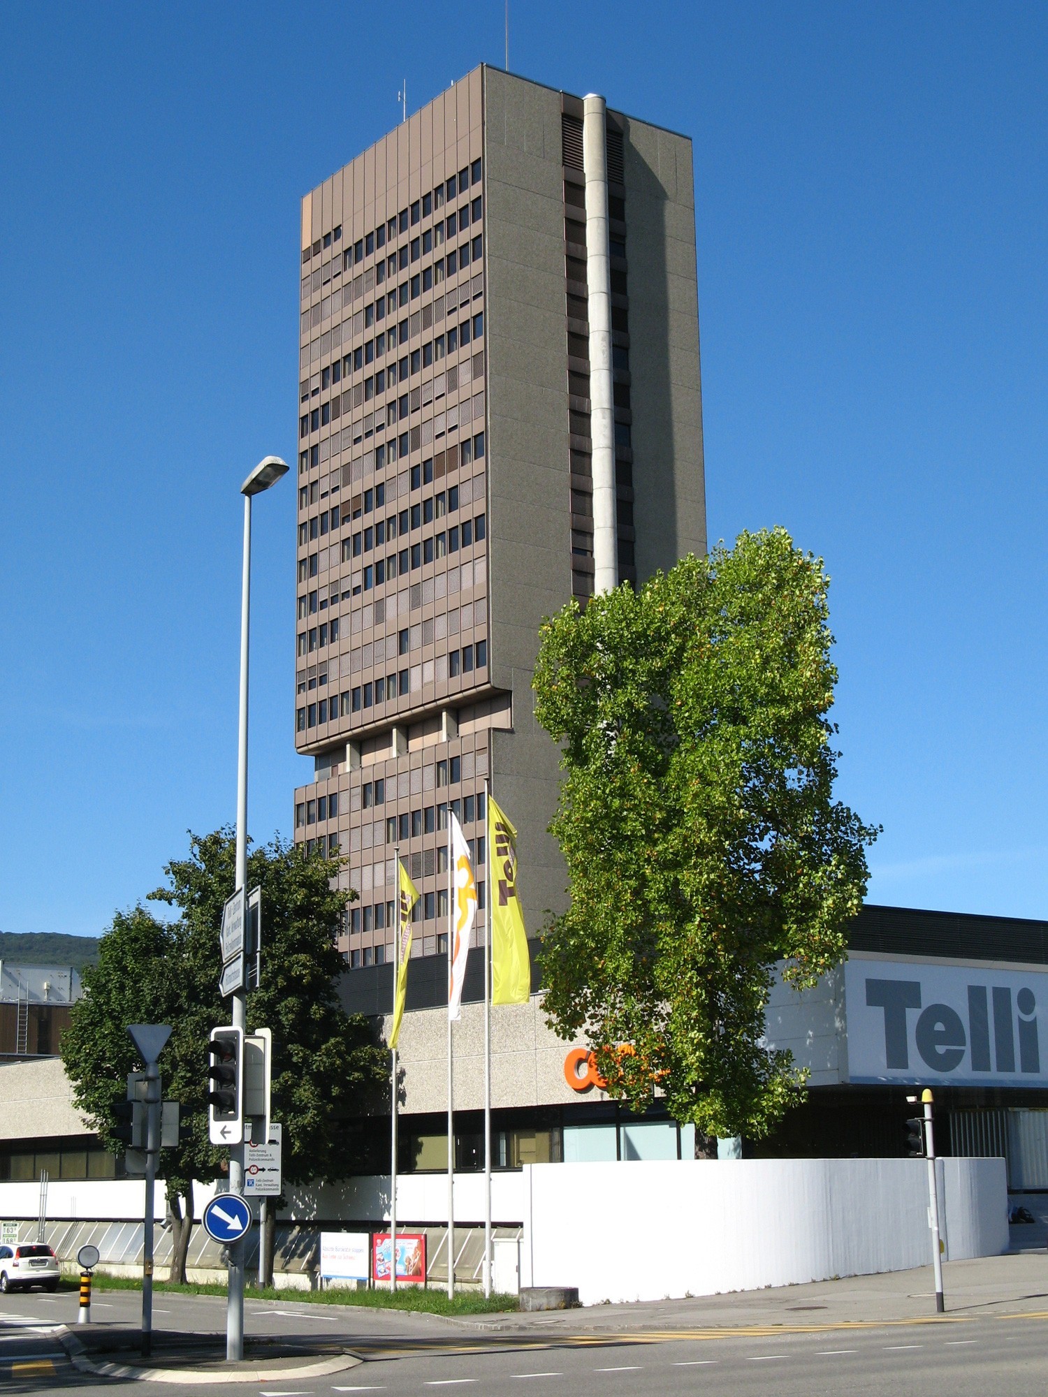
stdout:
[[(803, 1074), (762, 1045), (777, 963), (845, 954), (876, 830), (834, 799), (827, 577), (784, 529), (689, 556), (542, 626), (535, 711), (562, 745), (570, 905), (545, 1010), (611, 1095), (760, 1137)], [(625, 1049), (623, 1049), (623, 1045)]]

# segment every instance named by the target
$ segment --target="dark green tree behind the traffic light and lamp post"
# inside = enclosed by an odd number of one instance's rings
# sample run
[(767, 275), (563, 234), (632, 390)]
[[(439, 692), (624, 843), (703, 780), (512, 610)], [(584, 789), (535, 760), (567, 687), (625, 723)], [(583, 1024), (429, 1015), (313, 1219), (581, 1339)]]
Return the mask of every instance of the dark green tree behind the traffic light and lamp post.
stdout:
[[(140, 1067), (131, 1023), (169, 1023), (161, 1058), (163, 1095), (180, 1102), (190, 1137), (162, 1151), (175, 1222), (172, 1274), (184, 1275), (193, 1225), (193, 1179), (215, 1179), (226, 1151), (207, 1140), (207, 1042), (229, 1021), (219, 997), (222, 905), (233, 891), (236, 847), (229, 830), (190, 835), (189, 856), (166, 865), (168, 886), (148, 897), (177, 909), (162, 922), (143, 907), (119, 912), (102, 937), (98, 965), (84, 972), (61, 1053), (74, 1099), (110, 1148), (113, 1105), (126, 1073)], [(272, 1118), (284, 1125), (284, 1180), (306, 1183), (352, 1173), (362, 1140), (352, 1119), (388, 1090), (388, 1053), (363, 1016), (347, 1016), (335, 981), (335, 936), (355, 895), (338, 891), (337, 858), (303, 856), (274, 840), (247, 859), (247, 886), (261, 886), (261, 983), (247, 996), (249, 1030), (272, 1030)], [(184, 1200), (184, 1203), (183, 1203)]]

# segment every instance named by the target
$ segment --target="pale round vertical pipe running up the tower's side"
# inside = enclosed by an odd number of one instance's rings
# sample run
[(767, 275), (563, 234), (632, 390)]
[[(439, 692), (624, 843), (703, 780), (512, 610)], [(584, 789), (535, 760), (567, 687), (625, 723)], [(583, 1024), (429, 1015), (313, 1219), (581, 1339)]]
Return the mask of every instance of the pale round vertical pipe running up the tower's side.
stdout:
[(611, 341), (611, 264), (608, 247), (606, 103), (584, 101), (585, 285), (590, 310), (590, 400), (592, 433), (594, 592), (619, 581), (615, 538), (615, 401)]

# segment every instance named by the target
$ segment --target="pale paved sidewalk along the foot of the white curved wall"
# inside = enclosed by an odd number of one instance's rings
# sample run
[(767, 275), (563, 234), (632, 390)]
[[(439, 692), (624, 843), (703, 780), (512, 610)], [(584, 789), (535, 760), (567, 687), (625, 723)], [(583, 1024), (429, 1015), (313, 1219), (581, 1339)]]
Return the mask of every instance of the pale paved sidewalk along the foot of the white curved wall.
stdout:
[[(985, 1256), (943, 1266), (946, 1319), (995, 1315), (1048, 1317), (1048, 1253)], [(516, 1333), (643, 1333), (694, 1329), (802, 1327), (935, 1319), (932, 1267), (851, 1275), (682, 1301), (594, 1305), (585, 1309), (458, 1320)]]

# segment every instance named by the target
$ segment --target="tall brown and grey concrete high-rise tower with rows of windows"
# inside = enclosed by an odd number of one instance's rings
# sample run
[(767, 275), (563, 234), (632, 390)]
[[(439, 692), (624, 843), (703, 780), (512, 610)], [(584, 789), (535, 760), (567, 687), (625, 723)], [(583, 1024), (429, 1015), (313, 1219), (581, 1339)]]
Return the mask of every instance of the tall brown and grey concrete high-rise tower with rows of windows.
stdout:
[(488, 781), (535, 935), (539, 623), (706, 548), (690, 141), (474, 70), (303, 200), (299, 379), (295, 837), (348, 859), (351, 965), (391, 957), (395, 845), (435, 954)]

